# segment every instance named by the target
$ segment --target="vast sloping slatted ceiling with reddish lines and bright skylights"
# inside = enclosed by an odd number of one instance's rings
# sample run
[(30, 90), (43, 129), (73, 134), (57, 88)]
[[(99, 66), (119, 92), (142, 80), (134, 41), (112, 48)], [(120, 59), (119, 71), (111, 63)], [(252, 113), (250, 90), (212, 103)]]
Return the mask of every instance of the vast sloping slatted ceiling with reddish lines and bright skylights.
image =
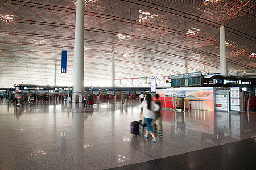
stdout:
[[(225, 26), (228, 71), (256, 70), (256, 1), (85, 0), (85, 83), (115, 78), (220, 73)], [(0, 87), (72, 86), (76, 1), (0, 1)], [(61, 74), (61, 51), (67, 73)], [(202, 70), (202, 69), (201, 69)]]

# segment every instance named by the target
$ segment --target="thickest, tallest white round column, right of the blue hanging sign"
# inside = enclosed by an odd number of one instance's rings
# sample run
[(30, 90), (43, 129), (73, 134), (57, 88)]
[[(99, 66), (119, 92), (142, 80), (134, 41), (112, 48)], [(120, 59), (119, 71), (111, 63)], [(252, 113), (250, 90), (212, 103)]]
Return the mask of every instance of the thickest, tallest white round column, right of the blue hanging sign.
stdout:
[(73, 60), (73, 92), (84, 93), (84, 0), (77, 0)]

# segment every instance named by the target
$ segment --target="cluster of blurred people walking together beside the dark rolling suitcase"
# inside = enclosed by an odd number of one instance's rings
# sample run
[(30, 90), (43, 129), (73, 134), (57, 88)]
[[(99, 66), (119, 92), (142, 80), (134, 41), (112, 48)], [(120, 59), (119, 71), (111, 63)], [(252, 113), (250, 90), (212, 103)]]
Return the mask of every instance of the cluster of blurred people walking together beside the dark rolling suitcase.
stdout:
[(139, 95), (139, 100), (141, 101), (141, 104), (138, 105), (138, 108), (142, 108), (142, 117), (144, 118), (144, 121), (146, 122), (146, 134), (144, 135), (145, 138), (148, 138), (148, 134), (150, 133), (152, 136), (152, 142), (156, 142), (155, 134), (152, 129), (152, 126), (155, 124), (155, 122), (158, 122), (158, 128), (159, 133), (158, 135), (162, 137), (163, 135), (163, 127), (162, 127), (162, 117), (160, 113), (161, 108), (161, 102), (158, 100), (159, 95), (155, 94), (155, 101), (152, 101), (151, 94), (146, 94), (145, 96), (143, 93)]

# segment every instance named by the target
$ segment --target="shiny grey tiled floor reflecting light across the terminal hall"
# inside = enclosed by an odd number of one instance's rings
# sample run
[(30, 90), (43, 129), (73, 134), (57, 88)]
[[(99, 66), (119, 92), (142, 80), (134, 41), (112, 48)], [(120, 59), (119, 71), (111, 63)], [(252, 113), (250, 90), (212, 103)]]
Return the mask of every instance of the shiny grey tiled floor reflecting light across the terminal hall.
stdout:
[[(84, 108), (82, 104), (53, 100), (16, 107), (3, 99), (0, 169), (136, 169), (137, 165), (137, 169), (155, 169), (148, 167), (155, 162), (158, 169), (168, 169), (168, 164), (170, 169), (200, 169), (198, 165), (173, 164), (193, 164), (195, 159), (184, 158), (196, 158), (205, 150), (210, 151), (203, 153), (209, 162), (202, 161), (201, 169), (213, 169), (207, 168), (207, 163), (226, 156), (230, 156), (227, 164), (237, 162), (235, 157), (240, 152), (236, 150), (241, 146), (248, 150), (246, 141), (255, 141), (256, 112), (183, 113), (163, 109), (163, 137), (156, 137), (156, 143), (152, 143), (151, 137), (143, 137), (142, 130), (139, 137), (130, 133), (131, 122), (139, 120), (138, 104), (137, 100), (123, 105), (118, 100), (97, 100), (92, 108)], [(227, 154), (224, 146), (236, 142), (240, 147), (227, 150)], [(251, 159), (254, 153), (245, 156)], [(213, 158), (212, 154), (219, 156)], [(223, 163), (217, 168), (229, 169)], [(255, 169), (255, 164), (251, 168)]]

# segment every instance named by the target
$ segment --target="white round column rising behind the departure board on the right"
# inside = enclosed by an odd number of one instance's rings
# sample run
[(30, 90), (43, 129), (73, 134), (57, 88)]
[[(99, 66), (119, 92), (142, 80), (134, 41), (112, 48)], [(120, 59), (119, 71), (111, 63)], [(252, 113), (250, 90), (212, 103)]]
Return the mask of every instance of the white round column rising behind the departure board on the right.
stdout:
[(225, 44), (225, 27), (220, 27), (220, 69), (221, 75), (228, 75), (228, 67), (226, 64), (226, 44)]

